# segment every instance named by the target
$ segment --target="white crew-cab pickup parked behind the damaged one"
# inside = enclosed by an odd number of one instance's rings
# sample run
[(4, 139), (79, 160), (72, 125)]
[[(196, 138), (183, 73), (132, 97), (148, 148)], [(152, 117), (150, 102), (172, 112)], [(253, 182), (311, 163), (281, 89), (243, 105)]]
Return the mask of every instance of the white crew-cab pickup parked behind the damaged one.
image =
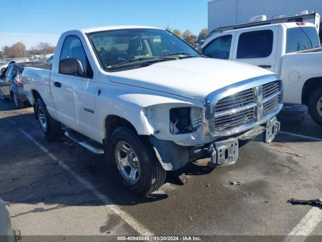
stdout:
[(269, 22), (218, 28), (206, 38), (202, 53), (276, 73), (283, 80), (283, 101), (307, 105), (322, 125), (322, 48), (315, 25)]

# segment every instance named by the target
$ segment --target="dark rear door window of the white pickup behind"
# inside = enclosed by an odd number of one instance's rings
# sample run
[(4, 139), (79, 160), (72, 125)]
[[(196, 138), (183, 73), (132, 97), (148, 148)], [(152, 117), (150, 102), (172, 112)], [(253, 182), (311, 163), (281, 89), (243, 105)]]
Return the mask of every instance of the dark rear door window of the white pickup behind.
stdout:
[(271, 55), (273, 31), (260, 30), (239, 35), (237, 58), (264, 58)]

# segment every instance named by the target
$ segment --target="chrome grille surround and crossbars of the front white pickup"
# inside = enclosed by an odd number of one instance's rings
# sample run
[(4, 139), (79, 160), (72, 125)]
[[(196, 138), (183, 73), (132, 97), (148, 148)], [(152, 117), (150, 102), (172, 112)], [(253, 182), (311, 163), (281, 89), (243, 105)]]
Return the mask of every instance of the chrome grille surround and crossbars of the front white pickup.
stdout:
[[(279, 81), (279, 85), (280, 85), (280, 91), (278, 92), (278, 94), (274, 93), (268, 97), (263, 98), (263, 88), (262, 85), (270, 83), (270, 82), (274, 82), (274, 81)], [(260, 88), (258, 88), (259, 86), (261, 86)], [(216, 103), (233, 94), (236, 94), (238, 92), (242, 92), (248, 89), (253, 89), (253, 91), (256, 91), (257, 93), (260, 93), (261, 95), (257, 95), (256, 100), (254, 100), (253, 103), (248, 104), (247, 106), (253, 106), (253, 108), (257, 108), (260, 109), (259, 112), (255, 111), (255, 113), (259, 113), (256, 114), (256, 117), (254, 117), (254, 121), (247, 124), (247, 125), (243, 125), (243, 126), (239, 126), (237, 129), (233, 129), (233, 130), (229, 130), (229, 131), (223, 131), (223, 132), (215, 132), (215, 117), (220, 117), (221, 115), (223, 115), (222, 113), (219, 112), (219, 114), (215, 113), (215, 106)], [(278, 95), (281, 96), (281, 100), (276, 108), (276, 110), (272, 113), (269, 113), (268, 115), (264, 116), (264, 104), (274, 98), (276, 98)], [(254, 95), (256, 96), (256, 95)], [(269, 74), (269, 75), (264, 75), (264, 76), (260, 76), (260, 77), (255, 77), (255, 78), (251, 78), (245, 81), (241, 81), (238, 83), (234, 83), (232, 85), (223, 87), (221, 89), (218, 89), (212, 93), (210, 93), (209, 95), (206, 96), (205, 98), (205, 102), (204, 102), (204, 107), (205, 107), (205, 112), (204, 112), (204, 116), (203, 116), (203, 131), (204, 134), (209, 137), (209, 136), (230, 136), (233, 134), (237, 134), (243, 131), (247, 131), (250, 130), (256, 126), (262, 125), (264, 123), (266, 123), (269, 119), (271, 119), (272, 117), (274, 117), (275, 115), (277, 115), (282, 107), (283, 107), (283, 84), (282, 81), (280, 80), (279, 76), (276, 74)], [(241, 111), (243, 111), (244, 107), (241, 107)], [(234, 111), (228, 111), (228, 114), (232, 114), (234, 113)]]

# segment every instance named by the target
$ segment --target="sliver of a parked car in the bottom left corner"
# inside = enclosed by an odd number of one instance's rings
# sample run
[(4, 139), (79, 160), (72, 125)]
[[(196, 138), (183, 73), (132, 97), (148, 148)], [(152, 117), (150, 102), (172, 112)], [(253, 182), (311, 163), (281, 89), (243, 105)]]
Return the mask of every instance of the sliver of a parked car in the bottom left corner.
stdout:
[(0, 198), (0, 238), (3, 242), (15, 242), (16, 233), (12, 228), (9, 212)]

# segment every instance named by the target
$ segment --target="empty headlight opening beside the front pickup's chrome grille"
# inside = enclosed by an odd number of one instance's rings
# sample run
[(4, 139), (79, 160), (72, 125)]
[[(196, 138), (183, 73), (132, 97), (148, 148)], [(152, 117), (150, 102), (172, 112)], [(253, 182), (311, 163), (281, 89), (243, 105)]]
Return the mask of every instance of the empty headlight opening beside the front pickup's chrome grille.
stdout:
[(170, 132), (172, 134), (193, 133), (201, 126), (200, 107), (176, 107), (170, 109)]

